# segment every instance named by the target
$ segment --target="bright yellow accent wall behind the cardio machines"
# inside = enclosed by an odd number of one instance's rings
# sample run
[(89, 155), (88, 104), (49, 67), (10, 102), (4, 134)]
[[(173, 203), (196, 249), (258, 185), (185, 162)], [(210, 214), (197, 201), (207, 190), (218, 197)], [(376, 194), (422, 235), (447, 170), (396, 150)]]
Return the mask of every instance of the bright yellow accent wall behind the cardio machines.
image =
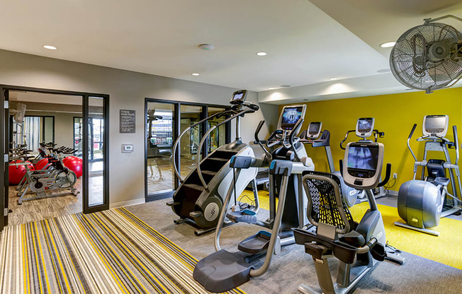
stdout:
[[(400, 185), (412, 180), (414, 160), (407, 149), (406, 141), (413, 124), (417, 124), (410, 141), (412, 150), (418, 160), (422, 160), (424, 143), (415, 139), (422, 136), (422, 121), (427, 114), (448, 114), (449, 129), (446, 138), (453, 140), (452, 126), (458, 129), (458, 141), (462, 135), (462, 88), (436, 90), (432, 94), (424, 91), (412, 93), (398, 93), (392, 95), (378, 95), (360, 98), (322, 100), (307, 102), (307, 112), (302, 130), (308, 129), (310, 122), (322, 122), (322, 129), (330, 131), (330, 146), (336, 170), (339, 170), (339, 159), (344, 157), (344, 151), (339, 143), (344, 139), (348, 130), (356, 127), (359, 117), (375, 117), (374, 129), (385, 132), (385, 137), (379, 142), (385, 145), (385, 163), (392, 164), (392, 172), (398, 173), (398, 181), (392, 190), (398, 191)], [(297, 103), (300, 104), (300, 103)], [(279, 107), (281, 112), (283, 105)], [(349, 141), (358, 141), (353, 133), (349, 134)], [(371, 137), (370, 139), (373, 139)], [(346, 142), (346, 143), (347, 143)], [(308, 156), (315, 163), (315, 168), (321, 172), (328, 172), (327, 158), (324, 148), (305, 146)], [(452, 160), (456, 155), (454, 149), (449, 149)], [(461, 152), (462, 155), (462, 152)], [(429, 152), (428, 158), (444, 159), (442, 153)], [(420, 168), (417, 179), (420, 176)], [(383, 173), (385, 168), (383, 169)], [(449, 175), (448, 175), (449, 177)], [(451, 189), (449, 189), (451, 191)]]

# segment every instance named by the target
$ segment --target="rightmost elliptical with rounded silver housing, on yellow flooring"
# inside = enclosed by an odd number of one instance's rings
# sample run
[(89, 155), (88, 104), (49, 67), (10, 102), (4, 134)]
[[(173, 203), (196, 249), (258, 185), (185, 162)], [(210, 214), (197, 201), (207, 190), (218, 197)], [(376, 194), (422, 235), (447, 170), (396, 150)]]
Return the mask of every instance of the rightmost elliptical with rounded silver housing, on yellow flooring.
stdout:
[[(424, 158), (418, 161), (412, 152), (410, 139), (414, 134), (417, 124), (407, 138), (407, 148), (411, 151), (414, 163), (414, 178), (401, 185), (398, 192), (398, 214), (406, 223), (395, 222), (402, 228), (417, 230), (422, 233), (439, 236), (439, 232), (429, 228), (439, 225), (439, 219), (451, 214), (459, 214), (462, 210), (462, 186), (461, 172), (458, 168), (458, 136), (456, 126), (452, 127), (453, 142), (446, 139), (449, 117), (447, 115), (426, 115), (422, 124), (423, 136), (417, 141), (425, 142)], [(451, 162), (449, 148), (454, 148), (456, 161)], [(440, 151), (444, 153), (445, 160), (429, 159), (428, 151)], [(417, 168), (422, 167), (422, 180), (415, 180)], [(427, 177), (425, 175), (427, 167)], [(449, 177), (446, 177), (449, 170)], [(454, 176), (455, 175), (455, 176)], [(457, 178), (457, 184), (456, 184)], [(453, 195), (448, 192), (448, 184), (451, 182)], [(457, 187), (458, 186), (458, 187)], [(451, 198), (446, 198), (450, 196)]]

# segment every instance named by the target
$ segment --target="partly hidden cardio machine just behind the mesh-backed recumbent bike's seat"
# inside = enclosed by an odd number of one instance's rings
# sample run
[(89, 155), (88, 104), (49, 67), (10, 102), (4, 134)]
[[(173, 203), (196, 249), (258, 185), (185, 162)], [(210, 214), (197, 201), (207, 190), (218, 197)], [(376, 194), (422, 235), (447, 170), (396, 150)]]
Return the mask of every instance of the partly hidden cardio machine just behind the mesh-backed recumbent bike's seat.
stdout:
[(345, 203), (349, 207), (354, 206), (356, 199), (364, 198), (364, 190), (356, 190), (345, 184), (341, 172), (339, 170), (336, 171), (334, 167), (334, 159), (332, 158), (332, 151), (330, 150), (330, 132), (325, 129), (321, 133), (321, 130), (322, 122), (310, 122), (308, 130), (303, 131), (302, 134), (300, 134), (300, 142), (305, 145), (311, 145), (313, 148), (324, 147), (329, 171), (339, 177), (342, 187), (342, 196), (344, 196)]

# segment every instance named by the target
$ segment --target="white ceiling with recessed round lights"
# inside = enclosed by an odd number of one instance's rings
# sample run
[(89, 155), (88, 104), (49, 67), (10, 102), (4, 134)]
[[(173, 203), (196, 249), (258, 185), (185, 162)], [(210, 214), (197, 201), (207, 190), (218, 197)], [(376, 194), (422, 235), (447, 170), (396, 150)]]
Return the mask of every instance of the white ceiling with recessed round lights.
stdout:
[(281, 103), (329, 98), (332, 77), (356, 83), (345, 97), (404, 91), (377, 72), (390, 53), (378, 45), (447, 13), (461, 1), (0, 0), (0, 49), (257, 92), (303, 86)]

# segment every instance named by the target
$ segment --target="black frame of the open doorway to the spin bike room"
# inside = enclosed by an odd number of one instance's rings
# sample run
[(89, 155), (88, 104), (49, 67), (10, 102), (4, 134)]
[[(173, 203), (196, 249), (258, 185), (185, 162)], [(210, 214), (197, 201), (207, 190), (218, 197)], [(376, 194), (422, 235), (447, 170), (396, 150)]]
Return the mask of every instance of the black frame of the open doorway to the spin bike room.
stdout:
[(9, 165), (8, 165), (8, 157), (5, 155), (9, 154), (9, 91), (10, 90), (18, 90), (18, 91), (28, 91), (28, 92), (36, 92), (36, 93), (45, 93), (45, 94), (59, 94), (59, 95), (73, 95), (73, 96), (81, 96), (82, 98), (82, 114), (84, 117), (84, 146), (83, 150), (87, 151), (89, 148), (89, 99), (91, 97), (94, 98), (103, 98), (103, 119), (105, 122), (104, 128), (104, 141), (106, 144), (103, 145), (103, 153), (104, 153), (104, 161), (103, 161), (103, 204), (89, 206), (89, 155), (88, 152), (83, 152), (83, 160), (84, 160), (84, 168), (83, 168), (83, 185), (82, 185), (82, 211), (83, 213), (93, 213), (96, 211), (103, 211), (109, 209), (109, 95), (106, 94), (98, 94), (98, 93), (86, 93), (86, 92), (74, 92), (74, 91), (67, 91), (67, 90), (53, 90), (53, 89), (46, 89), (46, 88), (32, 88), (32, 87), (21, 87), (21, 86), (9, 86), (9, 85), (0, 85), (0, 96), (1, 96), (1, 111), (0, 111), (0, 130), (3, 131), (0, 138), (0, 156), (3, 157), (2, 167), (0, 168), (0, 184), (4, 187), (2, 193), (0, 194), (0, 203), (4, 205), (2, 208), (4, 209), (4, 218), (0, 218), (0, 231), (3, 230), (4, 226), (8, 225), (8, 209), (9, 209)]

